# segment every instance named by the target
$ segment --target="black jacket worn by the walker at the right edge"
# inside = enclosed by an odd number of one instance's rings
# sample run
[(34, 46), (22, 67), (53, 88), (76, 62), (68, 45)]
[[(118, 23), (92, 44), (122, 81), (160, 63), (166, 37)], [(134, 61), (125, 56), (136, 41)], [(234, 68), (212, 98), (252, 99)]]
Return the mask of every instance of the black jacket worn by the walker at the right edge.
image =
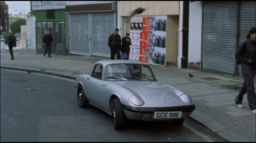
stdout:
[[(250, 38), (243, 41), (236, 51), (235, 58), (242, 63), (255, 67), (255, 41)], [(252, 63), (249, 63), (249, 59)]]

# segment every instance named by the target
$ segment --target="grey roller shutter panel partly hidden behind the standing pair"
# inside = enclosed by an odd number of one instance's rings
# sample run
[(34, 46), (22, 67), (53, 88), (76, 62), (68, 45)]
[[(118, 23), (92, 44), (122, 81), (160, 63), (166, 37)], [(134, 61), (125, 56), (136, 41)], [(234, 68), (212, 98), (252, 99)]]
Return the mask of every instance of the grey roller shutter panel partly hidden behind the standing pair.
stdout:
[(108, 37), (115, 28), (115, 12), (92, 12), (92, 55), (110, 57)]

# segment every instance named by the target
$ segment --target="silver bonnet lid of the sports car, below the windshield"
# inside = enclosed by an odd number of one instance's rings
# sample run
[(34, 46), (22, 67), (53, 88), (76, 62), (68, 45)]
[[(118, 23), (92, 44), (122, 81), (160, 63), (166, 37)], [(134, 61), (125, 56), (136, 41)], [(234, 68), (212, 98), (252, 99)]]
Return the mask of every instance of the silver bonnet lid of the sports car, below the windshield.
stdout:
[(139, 94), (172, 94), (170, 85), (162, 84), (156, 81), (120, 81), (116, 82), (122, 86), (129, 88)]

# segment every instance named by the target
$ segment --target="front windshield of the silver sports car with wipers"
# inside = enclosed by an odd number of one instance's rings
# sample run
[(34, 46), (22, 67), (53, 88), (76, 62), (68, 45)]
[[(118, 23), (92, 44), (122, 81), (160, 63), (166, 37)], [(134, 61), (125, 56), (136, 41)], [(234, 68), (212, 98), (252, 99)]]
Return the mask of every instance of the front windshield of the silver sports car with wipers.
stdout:
[(111, 80), (156, 80), (148, 65), (113, 64), (105, 68), (104, 79)]

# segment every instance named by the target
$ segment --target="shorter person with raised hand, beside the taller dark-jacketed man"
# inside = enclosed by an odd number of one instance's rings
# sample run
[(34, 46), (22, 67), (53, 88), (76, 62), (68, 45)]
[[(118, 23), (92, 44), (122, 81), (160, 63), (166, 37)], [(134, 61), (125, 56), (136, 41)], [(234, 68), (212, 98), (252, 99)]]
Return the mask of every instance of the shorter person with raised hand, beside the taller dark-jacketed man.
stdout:
[(126, 33), (124, 37), (122, 37), (122, 59), (129, 60), (129, 54), (130, 54), (130, 45), (132, 45), (130, 34)]

